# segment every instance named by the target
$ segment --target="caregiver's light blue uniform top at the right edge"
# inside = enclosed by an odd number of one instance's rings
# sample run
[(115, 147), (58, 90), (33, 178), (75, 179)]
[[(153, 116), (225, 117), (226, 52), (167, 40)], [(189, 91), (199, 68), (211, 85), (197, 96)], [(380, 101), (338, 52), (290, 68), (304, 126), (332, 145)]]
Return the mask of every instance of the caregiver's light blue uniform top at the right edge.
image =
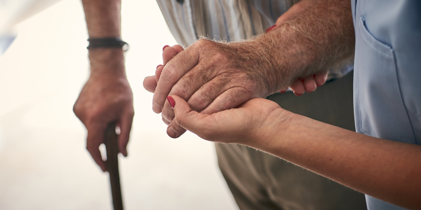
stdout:
[[(352, 14), (356, 131), (421, 144), (421, 1), (352, 0)], [(368, 210), (403, 209), (366, 199)]]

